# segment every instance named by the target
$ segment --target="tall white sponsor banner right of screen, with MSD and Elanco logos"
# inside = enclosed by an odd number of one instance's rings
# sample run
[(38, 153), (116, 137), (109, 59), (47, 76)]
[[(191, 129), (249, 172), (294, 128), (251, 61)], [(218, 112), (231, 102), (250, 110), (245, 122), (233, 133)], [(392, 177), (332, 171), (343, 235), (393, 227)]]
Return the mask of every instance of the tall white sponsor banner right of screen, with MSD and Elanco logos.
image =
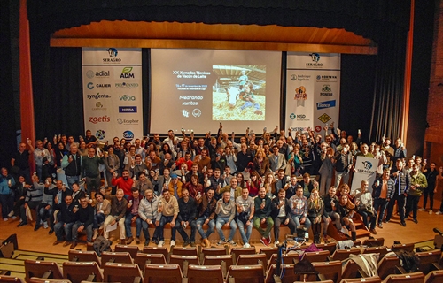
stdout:
[(286, 128), (338, 125), (340, 54), (288, 53), (286, 78)]

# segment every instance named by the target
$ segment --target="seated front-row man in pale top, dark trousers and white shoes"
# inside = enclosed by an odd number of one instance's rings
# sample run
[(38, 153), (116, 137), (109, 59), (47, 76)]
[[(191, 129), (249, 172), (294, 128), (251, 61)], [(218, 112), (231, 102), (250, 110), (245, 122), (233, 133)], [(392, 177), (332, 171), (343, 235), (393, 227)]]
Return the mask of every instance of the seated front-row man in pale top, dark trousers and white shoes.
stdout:
[[(253, 212), (255, 210), (253, 198), (249, 196), (247, 187), (242, 188), (242, 195), (236, 199), (237, 205), (237, 226), (242, 236), (243, 248), (250, 248), (249, 239), (253, 233)], [(246, 233), (245, 233), (246, 228)]]

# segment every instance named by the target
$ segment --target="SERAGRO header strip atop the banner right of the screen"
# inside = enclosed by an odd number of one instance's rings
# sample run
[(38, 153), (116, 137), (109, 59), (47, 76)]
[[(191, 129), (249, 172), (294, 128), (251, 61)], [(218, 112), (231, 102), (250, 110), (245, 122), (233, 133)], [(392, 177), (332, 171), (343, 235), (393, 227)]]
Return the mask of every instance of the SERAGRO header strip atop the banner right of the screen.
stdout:
[(288, 52), (288, 69), (299, 70), (340, 70), (338, 53)]

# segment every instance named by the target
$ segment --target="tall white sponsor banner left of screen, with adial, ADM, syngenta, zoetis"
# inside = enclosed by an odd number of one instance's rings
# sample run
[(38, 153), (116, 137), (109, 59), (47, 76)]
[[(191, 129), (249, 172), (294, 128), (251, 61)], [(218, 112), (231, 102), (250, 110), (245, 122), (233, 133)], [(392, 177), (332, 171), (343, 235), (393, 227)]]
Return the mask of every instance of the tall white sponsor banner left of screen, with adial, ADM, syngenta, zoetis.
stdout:
[(142, 50), (82, 48), (85, 130), (98, 140), (143, 136)]

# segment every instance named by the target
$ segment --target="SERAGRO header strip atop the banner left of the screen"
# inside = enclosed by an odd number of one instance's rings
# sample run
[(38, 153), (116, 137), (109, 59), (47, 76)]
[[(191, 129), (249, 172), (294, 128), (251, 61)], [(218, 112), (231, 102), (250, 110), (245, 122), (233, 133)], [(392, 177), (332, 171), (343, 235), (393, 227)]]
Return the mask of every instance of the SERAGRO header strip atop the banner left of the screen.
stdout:
[(142, 50), (83, 47), (82, 65), (142, 65)]

